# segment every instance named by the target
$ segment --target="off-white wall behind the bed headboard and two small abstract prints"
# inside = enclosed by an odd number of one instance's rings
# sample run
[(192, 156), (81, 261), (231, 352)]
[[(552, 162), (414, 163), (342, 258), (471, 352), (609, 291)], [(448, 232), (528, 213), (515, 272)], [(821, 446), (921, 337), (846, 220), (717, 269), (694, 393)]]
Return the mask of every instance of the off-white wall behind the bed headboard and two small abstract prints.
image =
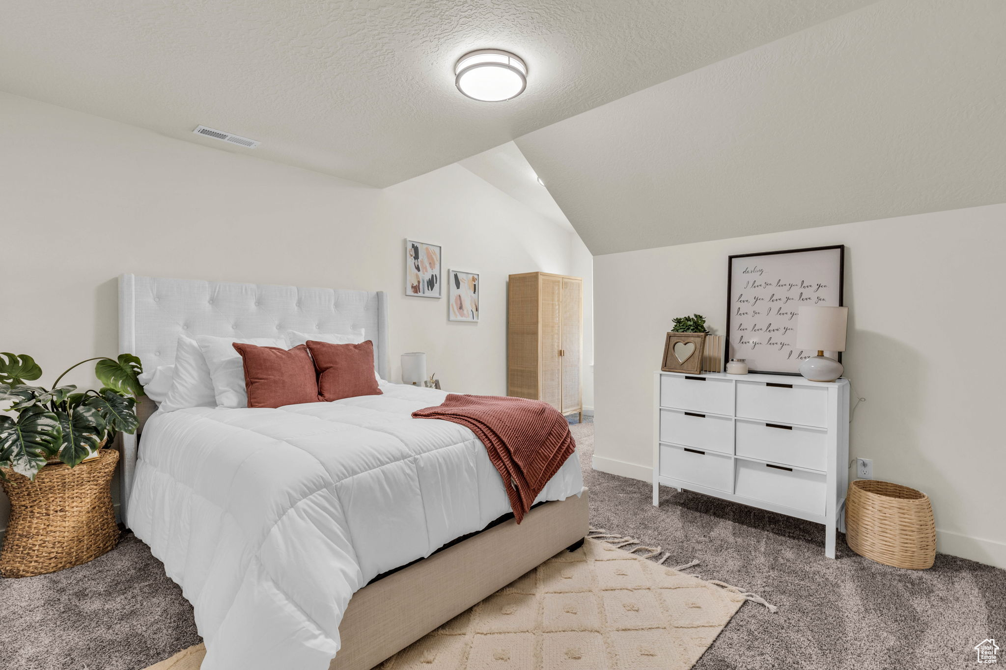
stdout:
[[(392, 381), (424, 351), (446, 389), (504, 394), (507, 275), (570, 273), (581, 245), (457, 165), (379, 190), (4, 93), (0, 155), (0, 351), (43, 385), (118, 352), (116, 277), (136, 272), (385, 290)], [(481, 274), (480, 322), (403, 294), (406, 237)]]

